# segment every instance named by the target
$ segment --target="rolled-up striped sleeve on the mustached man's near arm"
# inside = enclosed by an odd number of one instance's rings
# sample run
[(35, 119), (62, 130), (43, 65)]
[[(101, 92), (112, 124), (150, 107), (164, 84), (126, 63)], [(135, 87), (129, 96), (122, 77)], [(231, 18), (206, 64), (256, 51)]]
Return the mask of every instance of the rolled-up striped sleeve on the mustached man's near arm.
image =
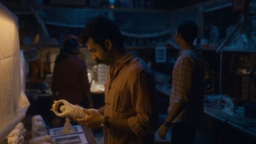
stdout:
[(138, 136), (155, 133), (158, 113), (154, 76), (144, 70), (139, 72), (131, 88), (131, 101), (137, 115), (128, 119), (128, 125)]

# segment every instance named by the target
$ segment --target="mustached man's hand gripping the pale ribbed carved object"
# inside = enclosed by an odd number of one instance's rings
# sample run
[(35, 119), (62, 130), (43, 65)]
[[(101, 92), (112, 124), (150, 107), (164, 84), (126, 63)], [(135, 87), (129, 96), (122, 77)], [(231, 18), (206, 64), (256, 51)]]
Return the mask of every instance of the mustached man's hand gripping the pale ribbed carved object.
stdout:
[(83, 112), (89, 114), (86, 118), (73, 118), (80, 125), (85, 125), (88, 128), (99, 128), (104, 121), (104, 116), (95, 109), (83, 109)]

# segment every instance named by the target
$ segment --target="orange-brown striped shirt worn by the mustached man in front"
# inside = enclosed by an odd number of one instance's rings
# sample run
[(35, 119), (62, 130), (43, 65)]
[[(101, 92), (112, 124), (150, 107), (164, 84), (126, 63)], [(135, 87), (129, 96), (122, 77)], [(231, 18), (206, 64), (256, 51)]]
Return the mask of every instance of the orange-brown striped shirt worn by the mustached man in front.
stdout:
[(133, 132), (108, 128), (104, 130), (104, 143), (153, 143), (158, 120), (155, 93), (153, 73), (136, 53), (128, 53), (115, 66), (109, 66), (104, 115), (128, 119)]

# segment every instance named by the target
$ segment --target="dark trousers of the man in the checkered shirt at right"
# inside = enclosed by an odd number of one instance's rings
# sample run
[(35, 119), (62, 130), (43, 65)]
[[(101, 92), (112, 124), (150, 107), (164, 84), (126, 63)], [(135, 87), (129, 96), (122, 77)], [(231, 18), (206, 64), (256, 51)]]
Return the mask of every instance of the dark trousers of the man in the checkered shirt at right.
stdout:
[(171, 143), (172, 144), (193, 144), (196, 130), (186, 123), (171, 124)]

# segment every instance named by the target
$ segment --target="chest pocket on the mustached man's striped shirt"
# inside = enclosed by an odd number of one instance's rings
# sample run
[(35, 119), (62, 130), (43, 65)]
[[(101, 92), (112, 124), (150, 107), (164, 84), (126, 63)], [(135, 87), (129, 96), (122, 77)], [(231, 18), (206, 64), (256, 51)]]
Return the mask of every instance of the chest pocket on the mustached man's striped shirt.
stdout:
[(123, 112), (128, 109), (130, 104), (130, 92), (120, 90), (113, 86), (113, 110), (116, 112)]

